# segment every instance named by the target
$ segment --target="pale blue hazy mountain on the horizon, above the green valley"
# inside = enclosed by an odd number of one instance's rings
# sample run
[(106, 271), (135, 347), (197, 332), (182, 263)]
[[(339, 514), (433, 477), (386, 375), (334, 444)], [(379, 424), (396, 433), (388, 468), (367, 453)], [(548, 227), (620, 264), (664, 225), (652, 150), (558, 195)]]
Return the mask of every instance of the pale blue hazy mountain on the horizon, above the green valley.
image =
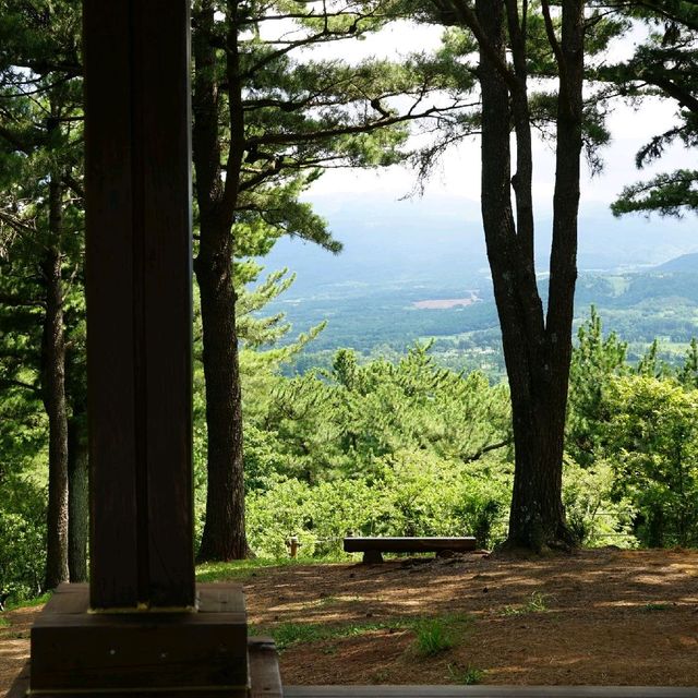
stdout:
[[(352, 201), (327, 196), (313, 203), (344, 251), (333, 256), (312, 243), (281, 239), (261, 262), (269, 270), (288, 267), (297, 273), (287, 299), (360, 296), (406, 285), (461, 290), (489, 286), (484, 236), (472, 202), (362, 195)], [(537, 221), (539, 272), (547, 266), (550, 230), (550, 220)], [(582, 210), (580, 272), (650, 270), (687, 253), (698, 255), (698, 234), (689, 221), (617, 219), (605, 209)]]

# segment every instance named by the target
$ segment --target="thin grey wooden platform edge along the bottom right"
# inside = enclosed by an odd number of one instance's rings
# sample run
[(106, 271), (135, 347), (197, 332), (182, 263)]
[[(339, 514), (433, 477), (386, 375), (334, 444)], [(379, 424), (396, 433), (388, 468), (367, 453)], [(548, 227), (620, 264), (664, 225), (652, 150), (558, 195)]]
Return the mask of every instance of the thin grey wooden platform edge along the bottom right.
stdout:
[(698, 698), (679, 686), (285, 686), (284, 698)]

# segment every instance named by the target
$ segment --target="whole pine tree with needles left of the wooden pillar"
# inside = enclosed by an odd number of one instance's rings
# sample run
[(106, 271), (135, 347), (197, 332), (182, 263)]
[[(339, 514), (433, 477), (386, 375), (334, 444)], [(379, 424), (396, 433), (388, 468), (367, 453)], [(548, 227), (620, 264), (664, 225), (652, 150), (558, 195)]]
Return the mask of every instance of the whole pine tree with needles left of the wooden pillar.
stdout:
[[(17, 374), (16, 360), (8, 351), (2, 371), (5, 383), (14, 387), (22, 373), (29, 393), (38, 386), (48, 416), (45, 586), (53, 588), (69, 578), (64, 313), (80, 267), (82, 232), (80, 12), (73, 2), (2, 5), (3, 335), (26, 348), (29, 359)], [(23, 323), (28, 309), (40, 322), (40, 339), (34, 330), (27, 337)]]

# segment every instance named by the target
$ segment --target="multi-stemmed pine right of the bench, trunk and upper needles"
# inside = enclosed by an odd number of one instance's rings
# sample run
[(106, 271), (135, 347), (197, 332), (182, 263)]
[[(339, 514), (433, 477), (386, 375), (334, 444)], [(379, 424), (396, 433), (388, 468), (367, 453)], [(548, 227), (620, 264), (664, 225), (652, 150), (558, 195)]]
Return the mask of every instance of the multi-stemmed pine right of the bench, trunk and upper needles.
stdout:
[[(595, 161), (604, 133), (585, 101), (585, 56), (610, 37), (602, 13), (582, 0), (444, 0), (443, 22), (467, 31), (479, 52), (482, 219), (512, 393), (515, 480), (508, 545), (568, 547), (562, 504), (565, 413), (577, 278), (581, 155)], [(462, 53), (466, 53), (461, 49)], [(466, 53), (467, 55), (467, 53)], [(535, 88), (534, 77), (557, 89)], [(532, 127), (554, 124), (555, 191), (547, 308), (538, 288), (532, 196)], [(512, 146), (514, 134), (514, 147)], [(513, 149), (516, 171), (512, 172)]]

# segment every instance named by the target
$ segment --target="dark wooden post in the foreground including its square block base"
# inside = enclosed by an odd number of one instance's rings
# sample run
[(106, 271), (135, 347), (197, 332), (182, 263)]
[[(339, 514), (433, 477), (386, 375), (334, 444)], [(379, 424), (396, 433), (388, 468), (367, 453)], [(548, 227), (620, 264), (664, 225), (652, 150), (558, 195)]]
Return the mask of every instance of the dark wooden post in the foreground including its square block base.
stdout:
[(194, 583), (189, 32), (189, 0), (84, 1), (91, 585), (32, 628), (44, 698), (280, 695), (239, 586)]

